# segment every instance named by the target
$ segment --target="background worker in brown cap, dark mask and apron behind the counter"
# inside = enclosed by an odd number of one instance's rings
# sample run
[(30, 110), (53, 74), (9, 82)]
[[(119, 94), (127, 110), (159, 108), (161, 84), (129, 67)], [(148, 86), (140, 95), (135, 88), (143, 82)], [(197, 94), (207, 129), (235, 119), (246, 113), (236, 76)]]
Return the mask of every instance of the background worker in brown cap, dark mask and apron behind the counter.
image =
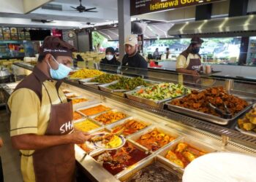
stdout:
[(202, 39), (194, 36), (187, 50), (181, 52), (177, 58), (176, 71), (183, 74), (185, 84), (200, 84), (201, 57), (199, 51), (202, 43)]

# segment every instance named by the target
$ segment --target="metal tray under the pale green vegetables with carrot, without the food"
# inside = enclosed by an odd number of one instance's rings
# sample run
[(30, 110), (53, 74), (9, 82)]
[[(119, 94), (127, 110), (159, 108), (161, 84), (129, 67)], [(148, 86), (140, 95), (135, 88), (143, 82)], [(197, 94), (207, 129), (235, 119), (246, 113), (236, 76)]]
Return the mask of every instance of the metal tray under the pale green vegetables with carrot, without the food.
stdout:
[[(138, 90), (140, 90), (140, 89), (138, 89)], [(154, 106), (154, 107), (161, 107), (162, 103), (165, 103), (166, 101), (170, 101), (170, 100), (174, 99), (174, 98), (165, 98), (162, 100), (150, 100), (147, 98), (141, 98), (136, 95), (132, 95), (133, 93), (138, 92), (138, 90), (132, 90), (129, 92), (125, 92), (125, 94), (127, 95), (127, 98), (129, 98), (130, 100), (135, 100), (139, 103), (146, 103), (146, 104), (148, 104), (150, 106)], [(178, 97), (180, 97), (180, 96), (178, 96)], [(176, 97), (176, 98), (178, 98), (178, 97)]]

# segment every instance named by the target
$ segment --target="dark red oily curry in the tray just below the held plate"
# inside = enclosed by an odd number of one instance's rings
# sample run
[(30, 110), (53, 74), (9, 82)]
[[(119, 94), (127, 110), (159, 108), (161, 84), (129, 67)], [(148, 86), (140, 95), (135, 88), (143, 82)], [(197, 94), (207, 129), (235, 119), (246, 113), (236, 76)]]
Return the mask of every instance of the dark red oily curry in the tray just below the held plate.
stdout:
[(141, 159), (148, 157), (145, 151), (135, 148), (131, 143), (126, 143), (121, 149), (105, 151), (94, 157), (98, 162), (102, 162), (103, 167), (112, 175), (120, 173), (127, 167), (134, 165)]

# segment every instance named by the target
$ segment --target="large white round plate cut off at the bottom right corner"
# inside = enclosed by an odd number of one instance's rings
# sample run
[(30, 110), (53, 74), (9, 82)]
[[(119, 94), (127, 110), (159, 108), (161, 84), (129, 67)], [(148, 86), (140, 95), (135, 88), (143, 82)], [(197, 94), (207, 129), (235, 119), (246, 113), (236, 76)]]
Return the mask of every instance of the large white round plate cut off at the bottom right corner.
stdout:
[(216, 152), (193, 160), (184, 170), (183, 182), (256, 181), (256, 157), (235, 152)]

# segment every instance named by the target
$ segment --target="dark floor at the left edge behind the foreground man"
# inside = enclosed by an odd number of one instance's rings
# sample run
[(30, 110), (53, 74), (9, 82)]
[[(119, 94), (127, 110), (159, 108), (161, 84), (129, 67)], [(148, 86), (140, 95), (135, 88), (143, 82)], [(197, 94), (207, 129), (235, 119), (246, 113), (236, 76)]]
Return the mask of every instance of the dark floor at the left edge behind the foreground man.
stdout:
[(4, 108), (0, 108), (0, 137), (4, 146), (0, 149), (4, 170), (4, 182), (22, 182), (20, 173), (20, 157), (17, 150), (12, 149), (10, 141), (10, 119)]

